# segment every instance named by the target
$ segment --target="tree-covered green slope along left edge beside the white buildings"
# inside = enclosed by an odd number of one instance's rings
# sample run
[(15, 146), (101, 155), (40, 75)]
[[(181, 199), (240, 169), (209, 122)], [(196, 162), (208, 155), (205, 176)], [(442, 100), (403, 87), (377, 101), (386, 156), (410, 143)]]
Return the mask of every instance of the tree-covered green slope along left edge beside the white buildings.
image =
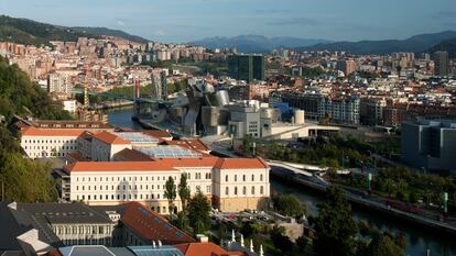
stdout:
[[(8, 127), (14, 114), (33, 114), (39, 119), (70, 119), (66, 111), (55, 109), (47, 93), (32, 84), (18, 66), (0, 57), (0, 198), (18, 202), (47, 202), (57, 199), (51, 180), (51, 165), (24, 158), (19, 140)], [(4, 191), (4, 194), (1, 194)]]

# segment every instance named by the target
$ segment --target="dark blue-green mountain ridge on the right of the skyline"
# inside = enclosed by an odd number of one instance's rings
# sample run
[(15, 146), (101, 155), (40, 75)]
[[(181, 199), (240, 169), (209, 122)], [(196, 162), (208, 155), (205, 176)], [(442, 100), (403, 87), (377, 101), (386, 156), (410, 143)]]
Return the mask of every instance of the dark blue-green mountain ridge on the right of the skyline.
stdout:
[(303, 51), (324, 51), (329, 52), (348, 52), (351, 54), (390, 54), (394, 52), (411, 53), (432, 53), (434, 46), (447, 42), (439, 47), (446, 49), (448, 43), (456, 40), (456, 31), (444, 31), (433, 34), (420, 34), (406, 40), (382, 40), (382, 41), (360, 41), (360, 42), (333, 42), (327, 44), (317, 44), (307, 47), (301, 47)]

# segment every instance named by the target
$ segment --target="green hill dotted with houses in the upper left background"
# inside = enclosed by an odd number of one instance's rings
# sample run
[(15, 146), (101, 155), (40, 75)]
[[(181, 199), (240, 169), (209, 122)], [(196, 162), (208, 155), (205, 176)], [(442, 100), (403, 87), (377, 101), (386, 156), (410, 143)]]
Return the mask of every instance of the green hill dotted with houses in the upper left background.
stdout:
[(123, 31), (106, 27), (67, 27), (41, 23), (28, 19), (0, 15), (0, 41), (19, 44), (42, 45), (50, 41), (77, 41), (78, 37), (99, 38), (101, 35), (113, 35), (134, 42), (146, 40), (130, 35)]

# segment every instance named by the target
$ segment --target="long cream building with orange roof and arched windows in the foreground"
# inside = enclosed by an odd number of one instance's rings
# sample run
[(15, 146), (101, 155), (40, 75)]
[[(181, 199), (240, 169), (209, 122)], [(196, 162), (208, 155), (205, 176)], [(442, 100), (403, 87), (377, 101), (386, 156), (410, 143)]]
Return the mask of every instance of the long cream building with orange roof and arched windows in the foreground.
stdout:
[[(77, 162), (63, 171), (69, 176), (68, 201), (112, 205), (141, 201), (169, 213), (164, 197), (169, 177), (176, 186), (187, 175), (191, 193), (199, 189), (220, 211), (260, 209), (270, 196), (269, 166), (259, 158), (167, 158), (151, 162)], [(177, 196), (175, 205), (181, 209)]]

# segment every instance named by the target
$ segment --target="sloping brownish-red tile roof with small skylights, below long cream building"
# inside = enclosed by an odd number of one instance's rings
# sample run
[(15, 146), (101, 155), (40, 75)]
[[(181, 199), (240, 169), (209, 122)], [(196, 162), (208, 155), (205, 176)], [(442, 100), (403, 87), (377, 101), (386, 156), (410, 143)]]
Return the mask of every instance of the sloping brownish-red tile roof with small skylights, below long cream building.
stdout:
[(161, 241), (164, 245), (194, 243), (195, 240), (173, 226), (162, 215), (139, 202), (130, 202), (122, 223), (146, 241)]

